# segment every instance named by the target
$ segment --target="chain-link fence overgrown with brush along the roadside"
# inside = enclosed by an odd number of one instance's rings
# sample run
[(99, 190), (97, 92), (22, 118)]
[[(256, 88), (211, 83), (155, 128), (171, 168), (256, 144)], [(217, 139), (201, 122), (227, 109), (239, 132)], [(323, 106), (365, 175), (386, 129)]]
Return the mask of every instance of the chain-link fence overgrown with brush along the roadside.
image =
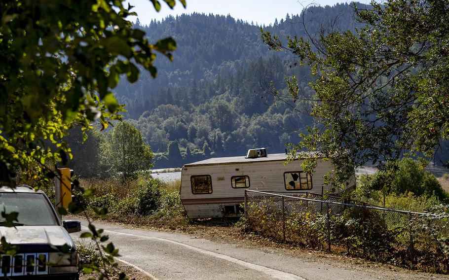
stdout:
[(246, 190), (246, 230), (311, 249), (449, 273), (448, 214), (348, 202), (309, 192)]

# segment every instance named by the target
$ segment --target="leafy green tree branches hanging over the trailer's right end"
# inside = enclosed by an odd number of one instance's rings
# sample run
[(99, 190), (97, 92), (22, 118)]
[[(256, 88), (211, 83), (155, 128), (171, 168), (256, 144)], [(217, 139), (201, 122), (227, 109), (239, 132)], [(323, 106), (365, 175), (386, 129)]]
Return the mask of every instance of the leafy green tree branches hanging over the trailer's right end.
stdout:
[[(368, 161), (382, 167), (403, 153), (428, 159), (449, 138), (447, 3), (371, 4), (355, 7), (362, 27), (354, 33), (291, 36), (284, 44), (262, 32), (271, 49), (291, 52), (316, 76), (310, 83), (316, 93), (311, 114), (322, 126), (309, 129), (292, 147), (292, 157), (309, 149), (332, 158), (337, 169), (328, 179), (335, 185)], [(289, 81), (290, 98), (301, 98), (296, 77)]]

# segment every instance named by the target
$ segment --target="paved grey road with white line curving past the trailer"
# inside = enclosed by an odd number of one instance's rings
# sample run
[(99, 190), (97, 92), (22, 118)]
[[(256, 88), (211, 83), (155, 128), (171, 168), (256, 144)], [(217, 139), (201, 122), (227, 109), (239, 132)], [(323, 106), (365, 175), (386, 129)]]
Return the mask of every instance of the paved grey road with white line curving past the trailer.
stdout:
[[(87, 223), (82, 221), (82, 230)], [(120, 251), (120, 260), (132, 264), (155, 280), (423, 280), (445, 279), (384, 266), (360, 265), (291, 255), (279, 251), (216, 243), (192, 235), (131, 229), (95, 222)], [(72, 234), (77, 239), (79, 234)], [(84, 241), (80, 241), (84, 242)]]

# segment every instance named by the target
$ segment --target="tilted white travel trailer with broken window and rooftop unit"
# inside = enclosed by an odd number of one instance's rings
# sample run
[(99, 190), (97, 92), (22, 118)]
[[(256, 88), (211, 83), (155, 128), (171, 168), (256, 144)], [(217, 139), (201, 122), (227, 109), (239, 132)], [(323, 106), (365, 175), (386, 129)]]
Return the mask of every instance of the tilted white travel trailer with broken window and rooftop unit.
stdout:
[[(236, 216), (244, 202), (245, 189), (308, 191), (322, 194), (331, 189), (323, 176), (333, 170), (331, 161), (317, 159), (313, 175), (302, 171), (302, 160), (285, 164), (286, 154), (267, 155), (264, 148), (247, 156), (210, 158), (184, 165), (181, 202), (189, 218)], [(355, 188), (353, 179), (346, 182)]]

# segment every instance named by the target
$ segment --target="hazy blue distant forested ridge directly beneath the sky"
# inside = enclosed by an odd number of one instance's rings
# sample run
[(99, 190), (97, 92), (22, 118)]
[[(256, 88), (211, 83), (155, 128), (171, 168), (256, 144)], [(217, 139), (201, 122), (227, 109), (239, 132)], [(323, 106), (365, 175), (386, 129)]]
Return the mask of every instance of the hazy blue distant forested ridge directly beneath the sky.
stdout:
[[(292, 12), (298, 7), (292, 7)], [(306, 16), (307, 31), (316, 33), (321, 28), (348, 29), (352, 26), (352, 8), (348, 4), (330, 7), (311, 7)], [(337, 19), (337, 23), (334, 23)], [(137, 25), (140, 26), (139, 23)], [(266, 27), (279, 35), (304, 36), (302, 17), (286, 15)], [(117, 96), (134, 99), (156, 95), (161, 88), (190, 86), (193, 80), (215, 80), (217, 75), (235, 73), (246, 69), (259, 58), (269, 58), (273, 54), (262, 43), (260, 26), (256, 23), (235, 20), (227, 15), (205, 15), (193, 13), (177, 17), (169, 16), (161, 22), (140, 26), (150, 41), (164, 36), (172, 36), (178, 45), (174, 61), (163, 56), (156, 58), (157, 79), (141, 72), (141, 79), (134, 84), (123, 82), (116, 88)], [(125, 99), (127, 100), (127, 99)]]

